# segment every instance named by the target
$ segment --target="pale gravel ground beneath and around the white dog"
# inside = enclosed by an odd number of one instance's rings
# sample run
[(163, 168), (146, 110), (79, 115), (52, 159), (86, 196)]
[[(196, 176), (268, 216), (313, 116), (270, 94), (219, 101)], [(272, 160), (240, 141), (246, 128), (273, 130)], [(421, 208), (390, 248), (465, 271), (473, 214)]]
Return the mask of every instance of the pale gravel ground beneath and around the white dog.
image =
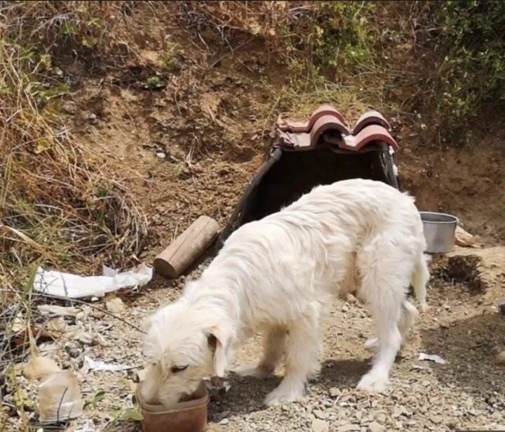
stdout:
[[(121, 317), (140, 325), (148, 313), (177, 298), (182, 284), (184, 277), (172, 283), (157, 278), (142, 294), (122, 296)], [(335, 301), (325, 320), (322, 372), (307, 396), (290, 405), (265, 407), (262, 400), (278, 384), (282, 370), (264, 381), (231, 374), (229, 392), (214, 395), (210, 402), (208, 431), (505, 430), (505, 368), (497, 361), (505, 345), (505, 316), (497, 308), (501, 293), (489, 289), (472, 294), (464, 284), (434, 277), (431, 307), (398, 355), (384, 395), (355, 389), (370, 367), (371, 354), (363, 347), (372, 330), (368, 313), (352, 298)], [(121, 417), (134, 406), (136, 372), (142, 367), (140, 333), (95, 308), (80, 309), (76, 318), (66, 318), (67, 332), (59, 341), (41, 346), (63, 367), (78, 372), (83, 398), (92, 402), (68, 430), (135, 431), (139, 424)], [(258, 339), (243, 347), (237, 365), (260, 357)], [(420, 352), (438, 354), (446, 364), (418, 360)], [(85, 354), (133, 369), (82, 373)], [(36, 385), (18, 378), (27, 400), (36, 400)], [(10, 421), (8, 430), (19, 427), (18, 419)]]

